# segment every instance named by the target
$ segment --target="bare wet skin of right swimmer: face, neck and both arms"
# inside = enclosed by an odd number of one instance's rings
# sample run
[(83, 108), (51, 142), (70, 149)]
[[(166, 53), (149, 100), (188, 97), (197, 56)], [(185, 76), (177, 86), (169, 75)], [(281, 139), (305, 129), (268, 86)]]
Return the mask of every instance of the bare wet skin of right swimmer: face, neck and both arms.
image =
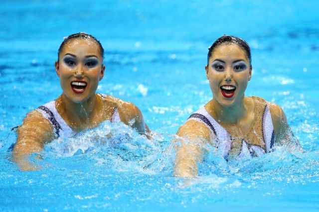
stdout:
[[(206, 111), (232, 136), (246, 134), (254, 120), (254, 102), (252, 98), (245, 97), (252, 76), (246, 52), (237, 44), (221, 44), (211, 53), (205, 71), (213, 94), (212, 100), (205, 105)], [(290, 143), (293, 133), (285, 113), (276, 104), (267, 105), (275, 130), (275, 142)], [(174, 175), (195, 177), (198, 173), (197, 164), (202, 161), (206, 151), (205, 145), (212, 144), (215, 135), (210, 133), (205, 124), (196, 120), (188, 120), (179, 127), (176, 135), (179, 138), (174, 142), (180, 142), (181, 145), (176, 145)]]

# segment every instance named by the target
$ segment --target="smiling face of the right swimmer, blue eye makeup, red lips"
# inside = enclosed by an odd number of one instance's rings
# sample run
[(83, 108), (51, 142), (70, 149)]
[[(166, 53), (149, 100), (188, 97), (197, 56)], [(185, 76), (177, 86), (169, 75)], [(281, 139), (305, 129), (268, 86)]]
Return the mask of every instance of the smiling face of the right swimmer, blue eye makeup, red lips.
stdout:
[(205, 70), (213, 99), (219, 104), (233, 106), (244, 98), (252, 68), (245, 51), (238, 45), (216, 47)]

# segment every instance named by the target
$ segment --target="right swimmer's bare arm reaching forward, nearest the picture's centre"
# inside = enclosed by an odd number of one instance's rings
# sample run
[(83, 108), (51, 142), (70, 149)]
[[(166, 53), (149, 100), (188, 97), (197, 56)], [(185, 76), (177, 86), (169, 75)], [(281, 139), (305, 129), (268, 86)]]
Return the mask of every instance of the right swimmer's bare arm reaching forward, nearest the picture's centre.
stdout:
[(198, 174), (198, 162), (203, 159), (205, 143), (210, 142), (211, 133), (205, 124), (195, 120), (189, 120), (179, 127), (177, 138), (174, 142), (180, 142), (176, 149), (174, 175), (177, 177), (195, 177)]

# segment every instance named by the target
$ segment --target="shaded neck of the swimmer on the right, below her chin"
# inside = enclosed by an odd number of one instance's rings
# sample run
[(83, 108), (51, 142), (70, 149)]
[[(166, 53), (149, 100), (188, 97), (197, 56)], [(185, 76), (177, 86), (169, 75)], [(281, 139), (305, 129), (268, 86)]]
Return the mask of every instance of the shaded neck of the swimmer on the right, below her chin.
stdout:
[(211, 108), (213, 108), (212, 114), (214, 114), (215, 118), (219, 122), (236, 124), (243, 117), (245, 117), (245, 114), (247, 113), (247, 106), (245, 102), (245, 97), (243, 97), (234, 105), (225, 107), (222, 106), (215, 98), (213, 98), (211, 101)]

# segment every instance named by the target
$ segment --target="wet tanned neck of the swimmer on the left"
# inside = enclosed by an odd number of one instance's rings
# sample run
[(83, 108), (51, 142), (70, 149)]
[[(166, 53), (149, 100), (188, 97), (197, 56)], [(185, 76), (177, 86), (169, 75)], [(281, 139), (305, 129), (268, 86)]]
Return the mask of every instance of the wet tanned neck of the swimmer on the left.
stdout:
[[(96, 104), (95, 95), (81, 103), (74, 103), (62, 94), (58, 99), (58, 107), (62, 109), (62, 113), (71, 123), (89, 124)], [(63, 117), (65, 118), (65, 117)]]

